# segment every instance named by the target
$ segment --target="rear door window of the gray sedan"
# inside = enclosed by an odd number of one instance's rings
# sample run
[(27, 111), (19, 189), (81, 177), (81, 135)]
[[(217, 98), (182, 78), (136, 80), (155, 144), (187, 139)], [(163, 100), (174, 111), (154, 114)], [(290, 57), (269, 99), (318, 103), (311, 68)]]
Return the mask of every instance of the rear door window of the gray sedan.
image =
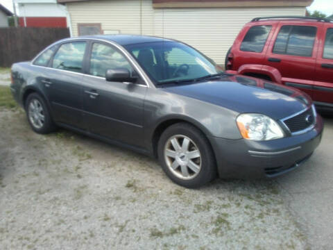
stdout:
[(82, 72), (86, 42), (69, 42), (62, 44), (54, 55), (52, 67), (71, 72)]

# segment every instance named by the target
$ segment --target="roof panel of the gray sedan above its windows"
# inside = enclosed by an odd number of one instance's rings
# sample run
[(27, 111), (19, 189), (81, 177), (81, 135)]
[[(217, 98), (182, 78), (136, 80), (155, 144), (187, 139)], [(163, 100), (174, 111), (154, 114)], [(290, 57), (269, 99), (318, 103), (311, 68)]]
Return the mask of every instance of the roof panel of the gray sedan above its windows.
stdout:
[[(140, 44), (146, 42), (176, 42), (167, 38), (158, 38), (149, 35), (86, 35), (79, 38), (89, 38), (116, 42), (119, 45)], [(75, 39), (75, 38), (72, 38)]]

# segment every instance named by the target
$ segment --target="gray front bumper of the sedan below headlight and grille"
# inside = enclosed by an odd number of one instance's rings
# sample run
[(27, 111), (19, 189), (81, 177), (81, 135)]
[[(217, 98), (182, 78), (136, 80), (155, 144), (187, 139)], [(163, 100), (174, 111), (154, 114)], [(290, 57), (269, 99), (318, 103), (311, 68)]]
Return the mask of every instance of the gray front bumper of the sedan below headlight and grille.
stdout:
[(287, 173), (311, 156), (321, 142), (323, 119), (301, 135), (269, 141), (210, 137), (220, 178), (273, 178)]

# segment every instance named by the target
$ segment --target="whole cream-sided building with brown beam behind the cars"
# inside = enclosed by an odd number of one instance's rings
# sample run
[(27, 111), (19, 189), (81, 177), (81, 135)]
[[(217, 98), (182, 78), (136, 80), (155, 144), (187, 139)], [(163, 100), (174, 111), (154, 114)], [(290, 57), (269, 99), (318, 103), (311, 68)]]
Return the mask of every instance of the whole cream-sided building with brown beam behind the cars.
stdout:
[(223, 64), (242, 26), (254, 17), (305, 15), (313, 0), (58, 0), (73, 35), (130, 33), (186, 42)]

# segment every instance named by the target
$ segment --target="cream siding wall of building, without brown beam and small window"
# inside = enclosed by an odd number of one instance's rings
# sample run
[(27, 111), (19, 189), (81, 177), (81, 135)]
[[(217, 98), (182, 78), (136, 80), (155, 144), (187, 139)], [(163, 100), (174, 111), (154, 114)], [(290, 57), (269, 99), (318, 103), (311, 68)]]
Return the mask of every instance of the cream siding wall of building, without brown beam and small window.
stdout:
[(219, 64), (224, 64), (237, 34), (254, 17), (305, 15), (302, 7), (153, 9), (152, 0), (82, 1), (67, 3), (67, 9), (74, 36), (79, 23), (101, 23), (106, 31), (181, 40)]

